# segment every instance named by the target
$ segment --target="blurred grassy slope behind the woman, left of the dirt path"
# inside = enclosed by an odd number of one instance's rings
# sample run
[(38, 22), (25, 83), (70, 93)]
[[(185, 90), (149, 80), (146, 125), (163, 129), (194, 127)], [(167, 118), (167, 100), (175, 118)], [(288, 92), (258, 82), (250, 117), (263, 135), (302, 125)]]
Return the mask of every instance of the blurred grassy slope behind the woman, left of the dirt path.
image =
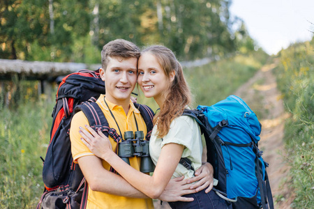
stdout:
[[(244, 84), (262, 67), (262, 61), (253, 56), (237, 55), (221, 61), (214, 61), (196, 68), (184, 68), (184, 75), (194, 96), (193, 107), (198, 104), (210, 106), (227, 98), (228, 95)], [(148, 104), (153, 110), (158, 109), (154, 100), (140, 94), (138, 102)]]

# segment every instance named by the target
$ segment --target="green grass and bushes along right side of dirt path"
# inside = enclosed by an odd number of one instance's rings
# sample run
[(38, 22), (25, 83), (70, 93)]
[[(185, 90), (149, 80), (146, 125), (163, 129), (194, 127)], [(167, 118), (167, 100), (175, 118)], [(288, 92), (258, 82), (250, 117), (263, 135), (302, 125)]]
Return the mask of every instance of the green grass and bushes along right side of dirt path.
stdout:
[(276, 69), (278, 88), (292, 117), (285, 123), (285, 143), (291, 162), (294, 208), (314, 208), (314, 38), (282, 50)]

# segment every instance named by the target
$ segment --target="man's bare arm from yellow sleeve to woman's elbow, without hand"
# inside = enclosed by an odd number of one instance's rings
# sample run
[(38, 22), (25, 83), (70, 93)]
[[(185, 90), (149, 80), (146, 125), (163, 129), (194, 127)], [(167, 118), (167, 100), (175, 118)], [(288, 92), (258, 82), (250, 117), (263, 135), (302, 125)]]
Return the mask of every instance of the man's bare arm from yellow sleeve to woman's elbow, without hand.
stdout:
[(77, 159), (91, 190), (131, 198), (149, 198), (124, 178), (103, 168), (100, 158), (90, 155)]

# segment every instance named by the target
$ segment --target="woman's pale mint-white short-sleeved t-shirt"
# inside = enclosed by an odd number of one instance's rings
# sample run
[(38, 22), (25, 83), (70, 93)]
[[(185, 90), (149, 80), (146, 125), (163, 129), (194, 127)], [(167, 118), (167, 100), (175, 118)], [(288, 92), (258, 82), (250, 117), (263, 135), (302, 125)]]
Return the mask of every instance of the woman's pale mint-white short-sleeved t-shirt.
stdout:
[[(181, 144), (184, 146), (182, 157), (188, 157), (192, 162), (192, 166), (198, 169), (202, 165), (202, 148), (205, 146), (204, 138), (201, 137), (200, 127), (195, 119), (190, 116), (179, 116), (174, 118), (170, 124), (170, 130), (162, 139), (156, 136), (157, 125), (154, 126), (149, 141), (149, 153), (151, 160), (157, 164), (161, 148), (165, 144)], [(186, 169), (182, 164), (178, 164), (177, 169), (174, 171), (172, 178), (185, 176), (191, 178), (194, 176), (194, 171)]]

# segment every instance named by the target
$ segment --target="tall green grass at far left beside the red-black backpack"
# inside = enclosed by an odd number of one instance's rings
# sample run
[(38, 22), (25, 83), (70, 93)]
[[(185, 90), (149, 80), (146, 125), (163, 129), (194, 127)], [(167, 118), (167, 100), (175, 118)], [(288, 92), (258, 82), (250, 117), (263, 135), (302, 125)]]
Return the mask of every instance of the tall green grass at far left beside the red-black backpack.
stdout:
[(45, 98), (0, 111), (0, 208), (36, 208), (50, 134), (52, 104)]

